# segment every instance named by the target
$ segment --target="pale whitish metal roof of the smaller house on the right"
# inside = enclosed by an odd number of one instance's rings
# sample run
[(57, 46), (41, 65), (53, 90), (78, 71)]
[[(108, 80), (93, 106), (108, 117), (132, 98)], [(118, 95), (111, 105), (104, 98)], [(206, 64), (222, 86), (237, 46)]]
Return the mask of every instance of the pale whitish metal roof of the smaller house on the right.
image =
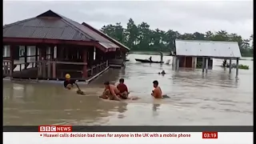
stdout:
[(238, 42), (175, 40), (176, 55), (241, 58)]

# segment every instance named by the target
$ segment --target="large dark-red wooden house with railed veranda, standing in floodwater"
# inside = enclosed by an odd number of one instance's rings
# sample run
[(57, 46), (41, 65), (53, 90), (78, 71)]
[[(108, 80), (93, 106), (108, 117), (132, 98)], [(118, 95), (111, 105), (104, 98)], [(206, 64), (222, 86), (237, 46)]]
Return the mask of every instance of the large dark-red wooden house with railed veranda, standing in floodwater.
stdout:
[[(83, 22), (48, 10), (3, 26), (3, 77), (62, 80), (66, 73), (90, 82), (125, 62), (128, 47)], [(114, 62), (116, 63), (116, 62)]]

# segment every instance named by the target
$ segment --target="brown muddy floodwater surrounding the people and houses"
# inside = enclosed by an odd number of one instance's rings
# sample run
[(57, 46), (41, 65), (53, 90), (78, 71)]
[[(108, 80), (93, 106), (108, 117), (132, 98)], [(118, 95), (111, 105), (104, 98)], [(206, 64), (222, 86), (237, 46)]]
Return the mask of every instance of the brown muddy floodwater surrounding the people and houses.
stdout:
[[(253, 61), (240, 61), (250, 70), (220, 66), (202, 76), (202, 70), (171, 70), (166, 64), (135, 62), (150, 55), (130, 54), (124, 70), (108, 70), (89, 85), (81, 86), (86, 96), (64, 90), (62, 83), (3, 82), (3, 125), (253, 125)], [(153, 56), (159, 60), (159, 56)], [(170, 57), (164, 57), (168, 60)], [(166, 75), (158, 75), (161, 70)], [(125, 78), (134, 102), (106, 102), (98, 99), (102, 82)], [(169, 99), (150, 96), (158, 80)]]

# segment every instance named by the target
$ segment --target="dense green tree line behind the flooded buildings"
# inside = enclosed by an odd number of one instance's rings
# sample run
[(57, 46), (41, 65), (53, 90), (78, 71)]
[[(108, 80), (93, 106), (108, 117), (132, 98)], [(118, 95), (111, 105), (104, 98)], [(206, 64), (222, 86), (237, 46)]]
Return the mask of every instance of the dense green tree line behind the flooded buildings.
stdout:
[(174, 50), (175, 39), (183, 39), (238, 42), (242, 56), (251, 57), (254, 53), (254, 46), (250, 46), (250, 42), (253, 43), (254, 34), (251, 34), (249, 39), (244, 39), (238, 34), (229, 34), (226, 30), (206, 31), (205, 34), (199, 32), (180, 34), (175, 30), (151, 30), (150, 25), (146, 22), (135, 25), (132, 18), (127, 22), (126, 28), (121, 26), (121, 22), (117, 22), (102, 26), (101, 30), (111, 38), (128, 46), (131, 51), (170, 52)]

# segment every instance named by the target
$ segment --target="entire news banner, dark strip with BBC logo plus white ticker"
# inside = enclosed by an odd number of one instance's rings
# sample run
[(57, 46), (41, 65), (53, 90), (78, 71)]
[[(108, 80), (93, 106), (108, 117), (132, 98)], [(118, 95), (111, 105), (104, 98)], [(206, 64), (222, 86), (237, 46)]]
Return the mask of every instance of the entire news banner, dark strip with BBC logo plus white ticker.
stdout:
[(4, 144), (252, 144), (254, 136), (253, 126), (3, 126), (3, 132)]

